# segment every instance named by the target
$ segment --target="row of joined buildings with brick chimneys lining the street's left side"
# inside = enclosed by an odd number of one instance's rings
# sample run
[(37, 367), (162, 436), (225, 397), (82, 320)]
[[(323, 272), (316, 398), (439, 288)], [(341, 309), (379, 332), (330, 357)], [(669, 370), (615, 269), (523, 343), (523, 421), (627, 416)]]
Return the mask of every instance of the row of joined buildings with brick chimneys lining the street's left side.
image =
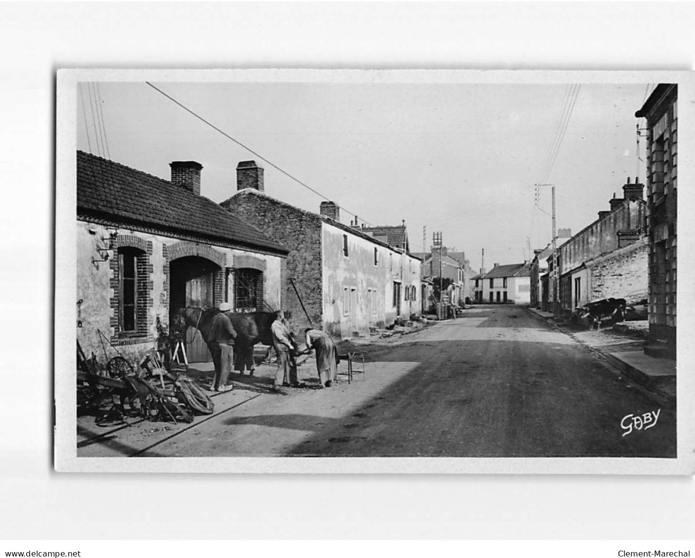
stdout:
[[(220, 204), (201, 195), (202, 164), (170, 168), (165, 180), (77, 152), (76, 325), (87, 355), (108, 341), (138, 361), (179, 307), (286, 310), (293, 329), (338, 339), (422, 312), (404, 223), (348, 226), (331, 201), (297, 208), (265, 192), (254, 161), (238, 164), (236, 192)], [(199, 335), (188, 341), (190, 360), (210, 359)]]

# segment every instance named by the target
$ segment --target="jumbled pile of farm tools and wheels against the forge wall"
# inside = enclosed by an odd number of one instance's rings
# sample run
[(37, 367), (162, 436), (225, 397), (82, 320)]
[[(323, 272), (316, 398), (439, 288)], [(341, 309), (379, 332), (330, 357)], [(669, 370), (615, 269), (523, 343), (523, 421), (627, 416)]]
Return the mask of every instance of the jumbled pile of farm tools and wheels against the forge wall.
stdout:
[(212, 414), (214, 409), (195, 380), (165, 369), (163, 355), (156, 348), (136, 371), (120, 353), (104, 365), (94, 353), (87, 358), (77, 341), (77, 392), (82, 412), (94, 414), (97, 424), (103, 426), (126, 423), (127, 417), (190, 423), (194, 414)]

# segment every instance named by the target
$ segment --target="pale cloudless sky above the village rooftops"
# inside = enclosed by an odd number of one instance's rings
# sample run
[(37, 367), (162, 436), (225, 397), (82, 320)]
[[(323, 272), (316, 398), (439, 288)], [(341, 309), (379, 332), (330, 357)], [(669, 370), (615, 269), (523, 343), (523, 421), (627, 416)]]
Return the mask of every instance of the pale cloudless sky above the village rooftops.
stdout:
[[(216, 202), (236, 192), (236, 164), (256, 160), (266, 194), (318, 212), (324, 198), (307, 185), (341, 206), (343, 223), (354, 215), (371, 225), (404, 220), (413, 252), (423, 251), (423, 227), (425, 251), (441, 232), (476, 271), (530, 260), (529, 247), (550, 242), (550, 184), (557, 228), (578, 233), (610, 208), (613, 194), (621, 197), (628, 177), (644, 182), (635, 111), (655, 86), (153, 85), (256, 155), (145, 82), (81, 83), (77, 148), (166, 179), (170, 162), (195, 160), (203, 165), (202, 195)], [(641, 138), (642, 159), (644, 146)], [(548, 185), (536, 203), (541, 181)]]

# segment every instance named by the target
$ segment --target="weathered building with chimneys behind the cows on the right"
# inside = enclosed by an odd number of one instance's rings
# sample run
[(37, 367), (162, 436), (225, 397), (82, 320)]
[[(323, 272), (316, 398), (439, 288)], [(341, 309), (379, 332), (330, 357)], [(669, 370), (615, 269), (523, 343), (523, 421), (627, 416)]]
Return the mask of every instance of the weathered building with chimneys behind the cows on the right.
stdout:
[[(644, 185), (637, 180), (623, 186), (623, 197), (610, 200), (610, 210), (557, 248), (559, 310), (602, 298), (626, 298), (628, 303), (647, 296), (646, 203)], [(548, 263), (552, 298), (552, 254)], [(550, 300), (545, 299), (550, 310)], [(541, 301), (541, 304), (543, 301)]]

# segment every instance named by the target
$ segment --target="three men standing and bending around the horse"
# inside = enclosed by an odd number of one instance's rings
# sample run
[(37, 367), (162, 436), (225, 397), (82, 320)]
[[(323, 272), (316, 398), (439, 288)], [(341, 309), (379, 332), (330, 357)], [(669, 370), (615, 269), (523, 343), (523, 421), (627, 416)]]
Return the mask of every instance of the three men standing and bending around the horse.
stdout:
[[(211, 391), (229, 391), (233, 387), (227, 384), (231, 367), (234, 364), (234, 340), (236, 331), (232, 326), (229, 316), (231, 307), (229, 303), (221, 303), (218, 312), (211, 321), (211, 349), (213, 364), (215, 365), (215, 378), (211, 385)], [(270, 327), (272, 343), (277, 355), (277, 371), (273, 381), (273, 391), (281, 391), (282, 387), (304, 387), (297, 379), (297, 361), (295, 358), (302, 354), (316, 350), (316, 367), (320, 380), (320, 387), (331, 387), (336, 380), (338, 353), (335, 344), (329, 335), (320, 330), (306, 328), (304, 341), (306, 349), (300, 350), (290, 331), (288, 321), (284, 313), (275, 313), (275, 321)], [(253, 369), (251, 369), (253, 374)]]

